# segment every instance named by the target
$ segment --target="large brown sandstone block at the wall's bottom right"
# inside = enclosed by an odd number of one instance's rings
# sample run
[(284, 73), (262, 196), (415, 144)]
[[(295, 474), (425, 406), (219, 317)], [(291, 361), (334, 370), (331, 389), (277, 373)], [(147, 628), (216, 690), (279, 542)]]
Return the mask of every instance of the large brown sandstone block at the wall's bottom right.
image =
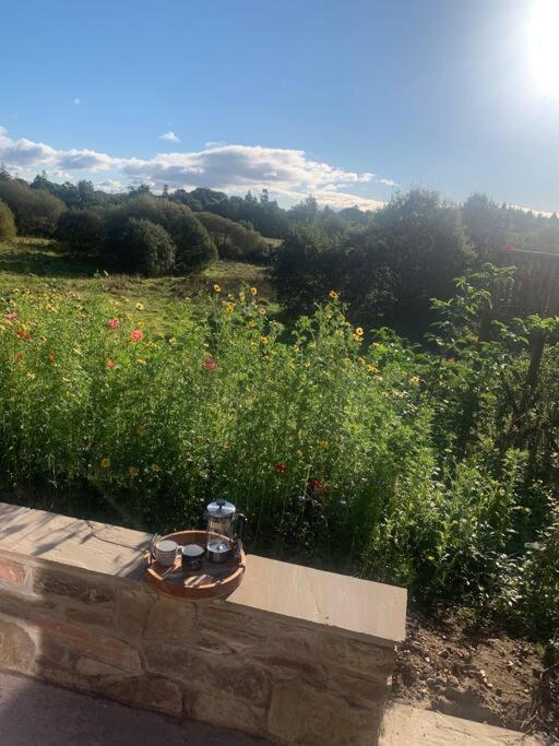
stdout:
[(366, 708), (296, 679), (274, 686), (267, 730), (289, 746), (372, 746), (381, 708)]

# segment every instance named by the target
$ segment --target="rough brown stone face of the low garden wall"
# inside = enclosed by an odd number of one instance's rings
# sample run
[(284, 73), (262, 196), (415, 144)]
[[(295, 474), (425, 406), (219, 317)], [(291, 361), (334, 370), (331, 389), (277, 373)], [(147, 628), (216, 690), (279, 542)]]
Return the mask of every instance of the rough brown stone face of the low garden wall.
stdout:
[[(27, 511), (27, 526), (31, 513), (39, 511)], [(53, 549), (14, 552), (23, 545), (17, 521), (11, 524), (0, 530), (0, 667), (278, 743), (376, 743), (394, 640), (242, 600), (160, 596), (135, 570), (120, 577), (64, 564), (60, 553), (45, 559)], [(145, 538), (139, 536), (136, 553)], [(267, 561), (254, 558), (264, 570)], [(281, 566), (273, 563), (271, 575)], [(405, 593), (379, 588), (400, 593), (404, 614)], [(340, 594), (338, 603), (349, 601)], [(385, 606), (386, 599), (378, 601)]]

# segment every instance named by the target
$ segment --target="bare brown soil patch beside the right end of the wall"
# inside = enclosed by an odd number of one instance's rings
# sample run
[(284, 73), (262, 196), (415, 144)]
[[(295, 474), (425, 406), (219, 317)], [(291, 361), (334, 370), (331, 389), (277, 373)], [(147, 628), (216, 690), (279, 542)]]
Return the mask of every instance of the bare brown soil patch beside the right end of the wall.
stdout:
[[(559, 744), (559, 666), (545, 650), (481, 628), (464, 611), (411, 612), (393, 696), (415, 707), (527, 733)], [(544, 674), (544, 671), (547, 672)]]

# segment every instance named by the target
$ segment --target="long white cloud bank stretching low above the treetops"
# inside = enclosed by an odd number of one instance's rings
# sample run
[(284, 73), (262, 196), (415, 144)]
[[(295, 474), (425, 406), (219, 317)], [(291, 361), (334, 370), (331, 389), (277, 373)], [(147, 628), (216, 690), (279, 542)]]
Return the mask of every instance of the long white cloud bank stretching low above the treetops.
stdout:
[[(166, 135), (176, 135), (173, 132)], [(166, 135), (162, 135), (167, 140)], [(269, 189), (283, 200), (305, 199), (314, 194), (322, 204), (374, 209), (377, 200), (348, 193), (354, 185), (377, 180), (369, 171), (352, 171), (307, 156), (305, 151), (261, 145), (207, 143), (194, 152), (158, 153), (151, 158), (118, 157), (90, 149), (55, 150), (50, 145), (26, 139), (13, 140), (0, 128), (0, 163), (8, 168), (29, 174), (44, 168), (56, 173), (73, 173), (73, 178), (106, 173), (115, 188), (117, 183), (148, 183), (162, 189), (209, 187), (229, 193), (259, 192)], [(75, 171), (84, 171), (75, 174)], [(388, 181), (388, 179), (384, 179)]]

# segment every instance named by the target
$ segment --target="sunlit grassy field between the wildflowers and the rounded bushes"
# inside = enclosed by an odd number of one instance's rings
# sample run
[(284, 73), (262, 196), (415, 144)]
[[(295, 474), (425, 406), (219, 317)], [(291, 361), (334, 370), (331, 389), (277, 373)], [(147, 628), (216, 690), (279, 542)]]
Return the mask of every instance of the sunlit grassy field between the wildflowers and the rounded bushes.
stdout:
[(55, 287), (79, 293), (84, 299), (104, 296), (131, 309), (142, 304), (145, 321), (163, 330), (173, 325), (186, 297), (195, 298), (215, 283), (224, 294), (237, 291), (245, 283), (255, 285), (259, 294), (270, 301), (270, 310), (277, 310), (269, 270), (255, 264), (218, 261), (200, 274), (142, 277), (107, 274), (93, 261), (69, 257), (53, 241), (37, 238), (19, 238), (14, 244), (0, 241), (0, 297), (14, 287), (33, 292)]

